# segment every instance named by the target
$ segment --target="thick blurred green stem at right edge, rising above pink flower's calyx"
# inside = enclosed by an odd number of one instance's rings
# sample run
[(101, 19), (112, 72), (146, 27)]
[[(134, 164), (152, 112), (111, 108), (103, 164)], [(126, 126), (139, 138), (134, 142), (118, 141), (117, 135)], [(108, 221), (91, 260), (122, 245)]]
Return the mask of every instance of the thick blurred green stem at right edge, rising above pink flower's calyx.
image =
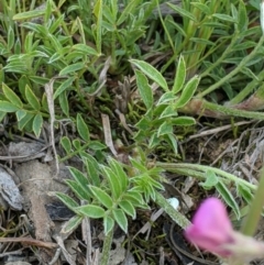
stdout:
[(241, 232), (245, 235), (252, 236), (257, 228), (261, 213), (264, 206), (264, 167), (261, 169), (261, 180), (255, 192), (254, 199), (251, 203), (250, 211), (242, 225)]

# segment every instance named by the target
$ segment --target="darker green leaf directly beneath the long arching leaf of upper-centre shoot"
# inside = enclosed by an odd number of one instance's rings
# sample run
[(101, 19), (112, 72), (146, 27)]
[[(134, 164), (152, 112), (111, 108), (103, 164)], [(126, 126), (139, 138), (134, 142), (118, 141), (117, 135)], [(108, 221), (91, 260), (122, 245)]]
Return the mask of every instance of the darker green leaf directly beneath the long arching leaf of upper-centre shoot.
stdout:
[(147, 109), (153, 107), (153, 92), (151, 86), (148, 85), (147, 78), (144, 74), (135, 70), (136, 86), (140, 91), (141, 98)]

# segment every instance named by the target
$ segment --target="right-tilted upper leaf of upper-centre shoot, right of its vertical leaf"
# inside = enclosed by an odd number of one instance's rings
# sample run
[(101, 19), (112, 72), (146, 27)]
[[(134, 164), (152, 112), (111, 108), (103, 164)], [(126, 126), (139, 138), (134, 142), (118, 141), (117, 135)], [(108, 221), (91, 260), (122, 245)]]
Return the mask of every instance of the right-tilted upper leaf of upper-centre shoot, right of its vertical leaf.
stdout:
[(189, 102), (189, 100), (191, 100), (199, 81), (200, 78), (195, 76), (185, 85), (179, 99), (175, 103), (175, 108), (183, 108)]

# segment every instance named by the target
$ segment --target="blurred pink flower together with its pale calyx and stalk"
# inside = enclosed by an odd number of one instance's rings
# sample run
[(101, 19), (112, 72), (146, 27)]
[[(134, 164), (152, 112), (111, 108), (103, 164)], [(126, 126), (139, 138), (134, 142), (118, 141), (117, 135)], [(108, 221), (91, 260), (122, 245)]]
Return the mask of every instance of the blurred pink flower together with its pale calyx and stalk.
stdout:
[(244, 263), (264, 256), (264, 243), (234, 231), (224, 205), (217, 198), (201, 203), (185, 236), (200, 249), (232, 261)]

